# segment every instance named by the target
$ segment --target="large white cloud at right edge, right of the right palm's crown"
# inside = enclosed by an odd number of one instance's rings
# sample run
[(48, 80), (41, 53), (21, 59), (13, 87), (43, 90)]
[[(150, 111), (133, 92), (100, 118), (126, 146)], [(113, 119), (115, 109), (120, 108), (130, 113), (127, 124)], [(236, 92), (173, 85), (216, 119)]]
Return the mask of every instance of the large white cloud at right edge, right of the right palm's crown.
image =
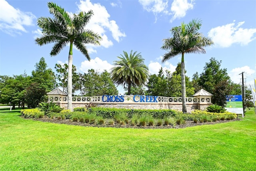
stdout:
[(208, 36), (212, 38), (215, 46), (222, 48), (230, 47), (232, 44), (244, 46), (256, 39), (256, 28), (241, 28), (244, 22), (238, 22), (237, 26), (234, 22), (212, 28), (208, 32)]

